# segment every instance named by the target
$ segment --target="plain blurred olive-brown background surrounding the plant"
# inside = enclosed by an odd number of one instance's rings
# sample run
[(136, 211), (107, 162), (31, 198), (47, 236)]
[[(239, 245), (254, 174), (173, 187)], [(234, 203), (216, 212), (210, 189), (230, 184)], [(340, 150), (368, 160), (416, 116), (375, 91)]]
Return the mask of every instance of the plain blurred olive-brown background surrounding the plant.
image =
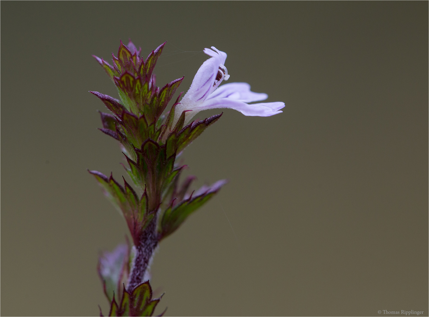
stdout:
[[(428, 312), (428, 3), (2, 2), (1, 314), (94, 315), (97, 256), (127, 227), (101, 127), (118, 97), (91, 57), (119, 39), (186, 91), (211, 45), (230, 82), (286, 103), (222, 118), (185, 150), (196, 187), (230, 183), (161, 242), (167, 316)], [(221, 110), (199, 113), (204, 118)]]

